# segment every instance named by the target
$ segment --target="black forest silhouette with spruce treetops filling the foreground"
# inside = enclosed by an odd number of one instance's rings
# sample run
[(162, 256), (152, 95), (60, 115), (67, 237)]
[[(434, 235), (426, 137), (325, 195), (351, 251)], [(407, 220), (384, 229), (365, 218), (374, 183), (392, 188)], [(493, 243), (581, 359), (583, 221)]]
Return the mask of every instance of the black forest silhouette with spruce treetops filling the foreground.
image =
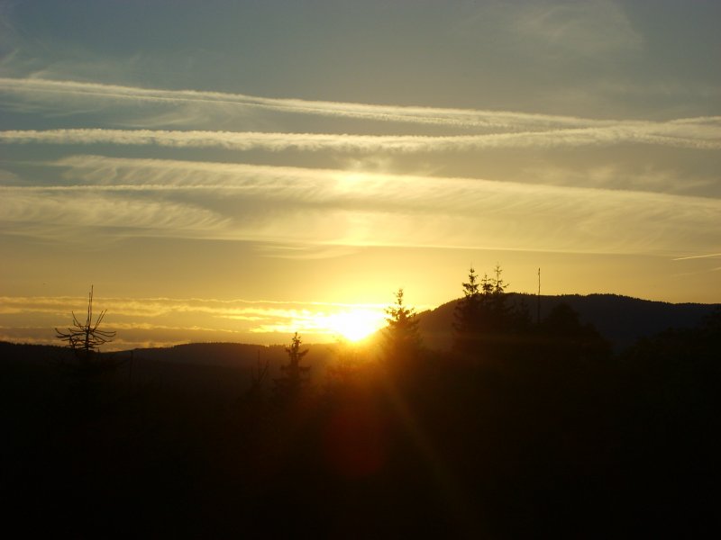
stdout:
[(69, 347), (0, 343), (4, 509), (76, 537), (715, 530), (719, 306), (619, 348), (568, 302), (541, 317), (499, 266), (461, 293), (450, 347), (400, 289), (364, 345), (296, 333), (169, 361), (89, 347), (91, 292)]

